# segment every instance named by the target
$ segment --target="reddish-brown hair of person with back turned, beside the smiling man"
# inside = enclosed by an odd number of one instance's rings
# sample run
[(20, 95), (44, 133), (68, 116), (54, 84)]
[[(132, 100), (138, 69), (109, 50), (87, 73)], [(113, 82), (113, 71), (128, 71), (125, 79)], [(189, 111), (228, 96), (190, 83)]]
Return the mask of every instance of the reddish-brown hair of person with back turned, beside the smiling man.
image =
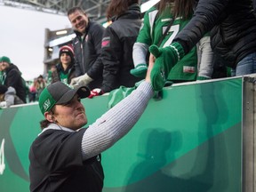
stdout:
[(139, 4), (139, 0), (111, 0), (106, 11), (108, 20), (114, 16), (124, 14), (132, 4)]

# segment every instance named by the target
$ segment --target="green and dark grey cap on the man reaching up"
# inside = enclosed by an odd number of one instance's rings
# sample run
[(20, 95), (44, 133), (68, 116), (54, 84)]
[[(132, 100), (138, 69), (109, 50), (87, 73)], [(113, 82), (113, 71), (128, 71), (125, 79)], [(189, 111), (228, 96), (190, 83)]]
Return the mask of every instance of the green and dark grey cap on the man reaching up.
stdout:
[(90, 95), (90, 90), (86, 86), (74, 89), (71, 85), (62, 82), (49, 84), (39, 96), (39, 108), (42, 114), (44, 115), (46, 111), (51, 110), (54, 105), (68, 103), (69, 100), (74, 98), (76, 93), (83, 99)]

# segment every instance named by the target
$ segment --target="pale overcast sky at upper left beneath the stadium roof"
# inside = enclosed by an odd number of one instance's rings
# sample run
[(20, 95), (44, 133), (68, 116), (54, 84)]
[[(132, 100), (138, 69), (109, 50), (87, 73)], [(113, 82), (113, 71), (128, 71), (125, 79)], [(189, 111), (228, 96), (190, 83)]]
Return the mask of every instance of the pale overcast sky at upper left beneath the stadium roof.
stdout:
[(70, 28), (68, 17), (0, 5), (0, 57), (7, 56), (26, 79), (44, 72), (44, 30)]

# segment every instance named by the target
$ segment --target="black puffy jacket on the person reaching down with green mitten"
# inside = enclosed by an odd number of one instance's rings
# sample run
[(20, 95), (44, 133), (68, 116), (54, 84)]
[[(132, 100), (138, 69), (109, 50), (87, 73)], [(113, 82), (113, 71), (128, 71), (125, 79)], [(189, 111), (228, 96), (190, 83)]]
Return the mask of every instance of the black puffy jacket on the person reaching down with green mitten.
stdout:
[(256, 52), (252, 0), (199, 0), (194, 17), (174, 41), (187, 53), (210, 30), (213, 52), (236, 68), (246, 55)]

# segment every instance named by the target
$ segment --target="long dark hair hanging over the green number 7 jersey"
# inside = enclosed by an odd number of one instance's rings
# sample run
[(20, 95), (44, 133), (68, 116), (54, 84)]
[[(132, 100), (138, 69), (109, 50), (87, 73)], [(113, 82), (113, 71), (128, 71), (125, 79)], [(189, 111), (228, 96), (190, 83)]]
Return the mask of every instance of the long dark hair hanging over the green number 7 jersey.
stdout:
[(157, 4), (159, 14), (163, 13), (166, 5), (170, 4), (173, 4), (173, 6), (170, 6), (170, 12), (172, 12), (174, 18), (182, 17), (183, 20), (188, 20), (194, 12), (195, 0), (161, 0)]

